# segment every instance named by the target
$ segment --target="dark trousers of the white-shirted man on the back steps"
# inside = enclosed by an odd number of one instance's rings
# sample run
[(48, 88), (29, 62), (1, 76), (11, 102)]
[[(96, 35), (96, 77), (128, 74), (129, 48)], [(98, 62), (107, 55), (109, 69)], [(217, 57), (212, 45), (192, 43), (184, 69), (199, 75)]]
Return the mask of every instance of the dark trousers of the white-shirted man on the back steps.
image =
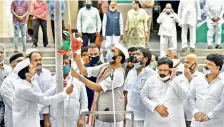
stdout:
[(82, 40), (83, 40), (83, 47), (87, 47), (89, 40), (90, 40), (90, 43), (95, 43), (96, 33), (93, 33), (93, 34), (83, 33)]

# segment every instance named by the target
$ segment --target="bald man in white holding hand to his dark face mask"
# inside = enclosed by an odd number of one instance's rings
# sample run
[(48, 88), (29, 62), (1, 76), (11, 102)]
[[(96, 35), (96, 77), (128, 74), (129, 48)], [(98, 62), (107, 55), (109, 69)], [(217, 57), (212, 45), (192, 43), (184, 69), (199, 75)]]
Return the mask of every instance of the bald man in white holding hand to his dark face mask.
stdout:
[[(174, 80), (181, 86), (185, 86), (187, 90), (190, 90), (190, 83), (192, 79), (203, 76), (203, 74), (198, 71), (198, 57), (195, 54), (188, 54), (184, 58), (184, 66), (185, 68), (183, 74), (177, 76)], [(184, 115), (186, 126), (190, 127), (193, 116), (189, 108), (189, 104), (187, 103), (187, 99), (184, 102)]]

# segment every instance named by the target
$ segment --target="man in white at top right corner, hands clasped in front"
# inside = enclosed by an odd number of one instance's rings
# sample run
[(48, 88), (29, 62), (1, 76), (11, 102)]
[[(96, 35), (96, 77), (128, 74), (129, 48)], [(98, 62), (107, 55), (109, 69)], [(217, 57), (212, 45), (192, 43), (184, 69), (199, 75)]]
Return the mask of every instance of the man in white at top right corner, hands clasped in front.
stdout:
[(216, 34), (216, 47), (221, 49), (222, 24), (224, 15), (224, 1), (223, 0), (206, 0), (205, 11), (207, 18), (207, 41), (208, 49), (212, 48), (213, 36)]

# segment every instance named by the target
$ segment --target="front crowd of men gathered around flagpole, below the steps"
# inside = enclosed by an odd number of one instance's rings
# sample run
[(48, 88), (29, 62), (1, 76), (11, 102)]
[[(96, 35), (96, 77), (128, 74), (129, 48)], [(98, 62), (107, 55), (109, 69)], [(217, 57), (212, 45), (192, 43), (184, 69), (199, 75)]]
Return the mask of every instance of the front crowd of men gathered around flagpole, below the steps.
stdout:
[[(223, 56), (198, 57), (182, 63), (175, 49), (158, 59), (148, 48), (128, 50), (115, 44), (101, 62), (100, 47), (87, 48), (84, 64), (77, 53), (63, 56), (64, 91), (56, 94), (56, 77), (42, 67), (42, 55), (27, 50), (4, 64), (1, 58), (0, 120), (5, 127), (56, 127), (57, 103), (64, 101), (64, 127), (131, 127), (130, 115), (90, 115), (84, 111), (133, 111), (135, 127), (223, 127)], [(77, 68), (74, 68), (75, 61)], [(178, 61), (178, 62), (177, 62)], [(71, 85), (72, 84), (72, 85)], [(4, 125), (5, 124), (5, 125)]]

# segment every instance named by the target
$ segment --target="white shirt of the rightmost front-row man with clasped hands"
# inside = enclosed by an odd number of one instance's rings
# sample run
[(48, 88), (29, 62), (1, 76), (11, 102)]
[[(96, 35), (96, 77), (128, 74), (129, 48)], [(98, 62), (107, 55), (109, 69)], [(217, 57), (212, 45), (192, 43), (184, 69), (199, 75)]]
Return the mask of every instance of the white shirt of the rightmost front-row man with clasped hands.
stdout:
[(205, 76), (191, 81), (191, 96), (188, 101), (192, 115), (203, 112), (207, 122), (192, 120), (192, 127), (224, 127), (224, 76), (219, 74), (210, 84)]

